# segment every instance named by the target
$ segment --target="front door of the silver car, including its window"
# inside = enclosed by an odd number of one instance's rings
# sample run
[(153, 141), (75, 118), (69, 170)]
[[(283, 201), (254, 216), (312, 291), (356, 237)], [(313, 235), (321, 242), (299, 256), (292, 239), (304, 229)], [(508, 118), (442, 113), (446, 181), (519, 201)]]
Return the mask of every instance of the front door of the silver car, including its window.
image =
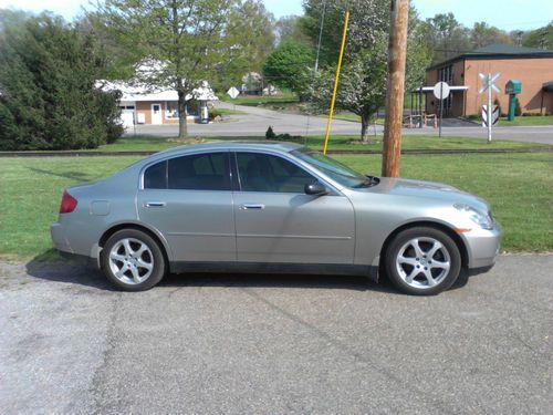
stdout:
[(280, 155), (239, 152), (234, 162), (238, 261), (353, 263), (354, 210), (345, 196), (306, 195), (316, 178)]

